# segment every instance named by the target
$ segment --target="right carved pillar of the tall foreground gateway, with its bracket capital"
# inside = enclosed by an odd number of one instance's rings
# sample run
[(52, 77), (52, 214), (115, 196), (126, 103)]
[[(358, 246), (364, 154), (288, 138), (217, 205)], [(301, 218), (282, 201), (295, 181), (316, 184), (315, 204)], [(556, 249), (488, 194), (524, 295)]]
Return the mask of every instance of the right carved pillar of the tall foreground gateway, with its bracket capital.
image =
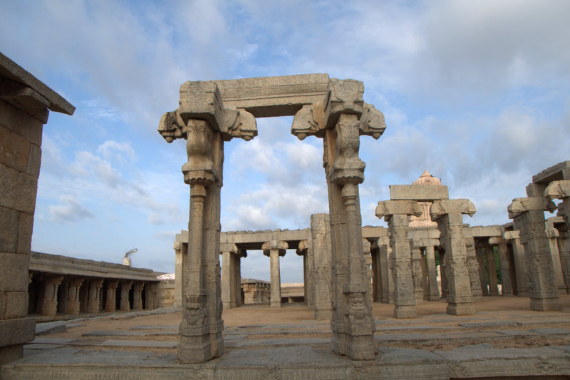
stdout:
[(380, 138), (384, 116), (362, 98), (362, 82), (331, 78), (323, 103), (304, 106), (291, 133), (323, 137), (323, 166), (331, 212), (332, 302), (331, 348), (351, 359), (375, 355), (372, 304), (363, 267), (362, 220), (358, 185), (364, 180), (358, 158), (360, 135)]

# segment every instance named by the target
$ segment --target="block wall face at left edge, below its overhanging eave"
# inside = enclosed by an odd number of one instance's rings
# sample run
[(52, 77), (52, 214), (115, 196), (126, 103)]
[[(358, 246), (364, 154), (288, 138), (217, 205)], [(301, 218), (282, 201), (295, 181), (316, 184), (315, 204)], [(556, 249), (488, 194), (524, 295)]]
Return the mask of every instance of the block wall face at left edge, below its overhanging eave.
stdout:
[[(0, 99), (0, 364), (33, 339), (28, 264), (43, 123)], [(14, 334), (14, 332), (18, 334)]]

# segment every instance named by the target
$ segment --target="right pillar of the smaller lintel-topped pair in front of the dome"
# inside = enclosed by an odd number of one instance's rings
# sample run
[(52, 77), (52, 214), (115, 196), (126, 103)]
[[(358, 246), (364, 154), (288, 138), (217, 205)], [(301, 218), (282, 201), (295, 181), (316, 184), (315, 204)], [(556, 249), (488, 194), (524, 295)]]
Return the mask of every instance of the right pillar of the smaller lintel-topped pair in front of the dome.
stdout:
[(430, 215), (437, 222), (440, 242), (448, 257), (447, 314), (453, 315), (475, 314), (462, 214), (475, 214), (475, 206), (470, 200), (436, 200), (430, 207)]

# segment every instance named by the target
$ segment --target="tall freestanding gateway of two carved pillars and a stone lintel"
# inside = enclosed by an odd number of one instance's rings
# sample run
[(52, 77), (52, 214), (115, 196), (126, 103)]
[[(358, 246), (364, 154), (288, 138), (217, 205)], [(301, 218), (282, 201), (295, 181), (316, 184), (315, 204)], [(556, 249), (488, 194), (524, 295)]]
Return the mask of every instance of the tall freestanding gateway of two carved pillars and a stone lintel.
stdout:
[[(291, 133), (301, 140), (308, 135), (323, 138), (331, 212), (332, 349), (351, 359), (374, 358), (375, 324), (363, 266), (358, 197), (365, 164), (358, 148), (360, 135), (379, 138), (385, 124), (382, 113), (364, 103), (363, 92), (359, 81), (323, 74), (181, 86), (179, 108), (165, 113), (159, 123), (167, 142), (187, 140), (188, 161), (182, 173), (190, 185), (189, 248), (179, 361), (204, 362), (224, 351), (218, 258), (224, 141), (250, 140), (257, 135), (255, 117), (276, 115), (294, 115)], [(272, 258), (279, 255), (279, 247), (268, 250)]]

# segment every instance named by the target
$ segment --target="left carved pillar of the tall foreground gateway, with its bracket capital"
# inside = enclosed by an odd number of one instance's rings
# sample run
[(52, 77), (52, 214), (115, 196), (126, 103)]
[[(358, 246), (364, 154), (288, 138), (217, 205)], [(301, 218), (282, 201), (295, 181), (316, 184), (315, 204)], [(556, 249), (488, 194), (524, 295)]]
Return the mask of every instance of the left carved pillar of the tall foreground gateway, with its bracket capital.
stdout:
[(251, 113), (224, 108), (212, 81), (184, 83), (179, 105), (162, 115), (158, 127), (168, 143), (175, 138), (187, 140), (188, 161), (182, 173), (190, 185), (190, 220), (177, 356), (182, 363), (202, 363), (224, 353), (219, 267), (224, 141), (251, 140), (257, 125)]

